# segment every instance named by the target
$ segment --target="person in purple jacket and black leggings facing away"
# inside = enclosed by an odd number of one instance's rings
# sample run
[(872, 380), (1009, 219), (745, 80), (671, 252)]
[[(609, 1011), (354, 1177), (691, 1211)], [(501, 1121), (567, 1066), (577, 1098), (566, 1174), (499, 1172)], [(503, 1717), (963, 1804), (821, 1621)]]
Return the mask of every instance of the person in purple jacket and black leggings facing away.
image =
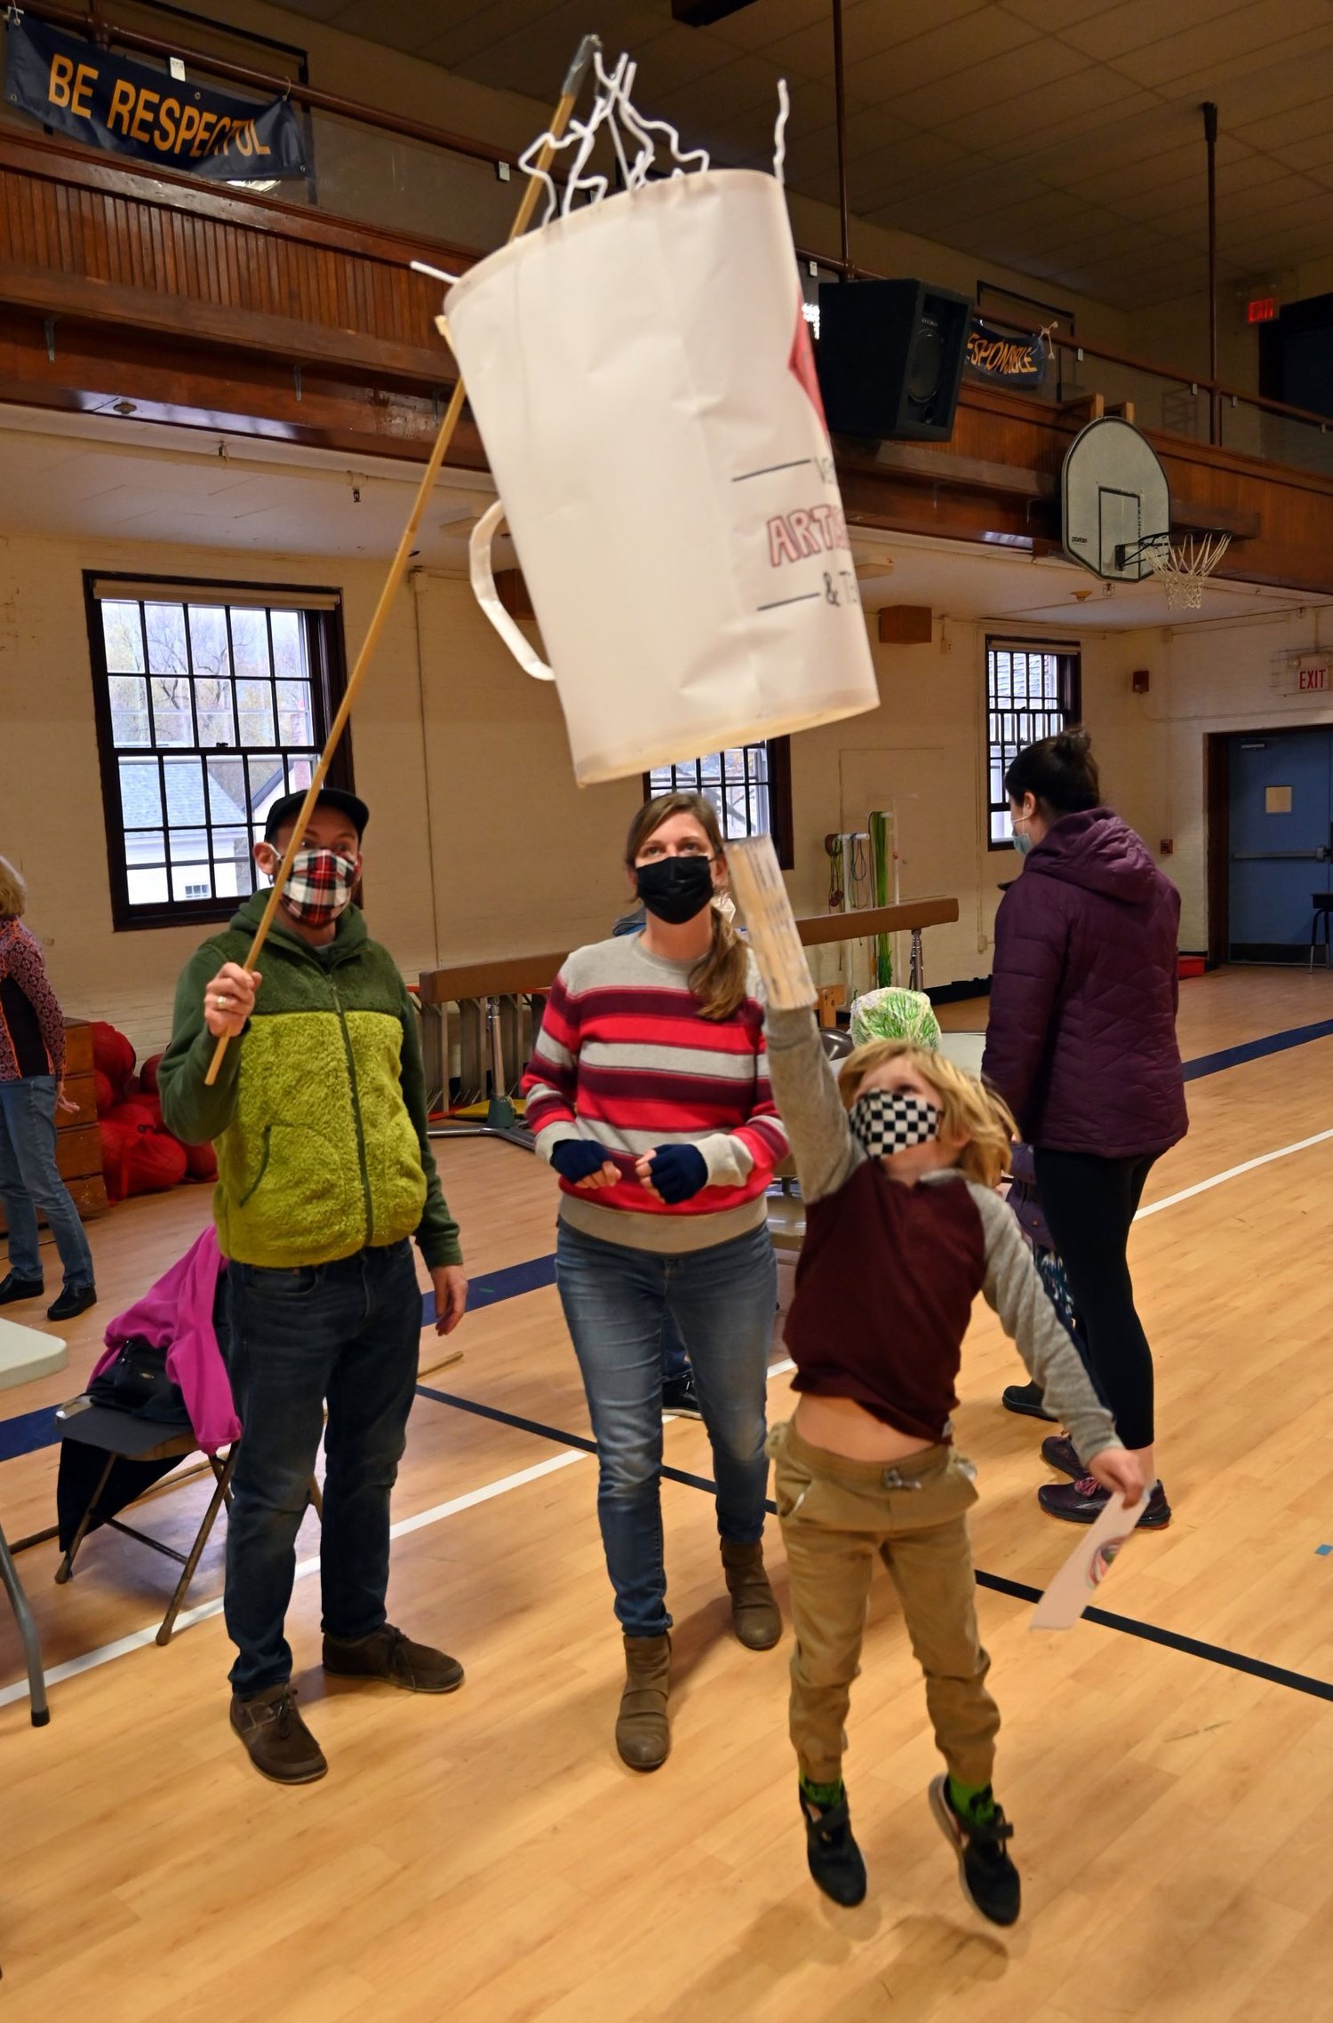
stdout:
[[(1102, 805), (1086, 732), (1030, 744), (1005, 793), (1024, 876), (995, 918), (983, 1074), (1034, 1147), (1090, 1370), (1153, 1483), (1153, 1355), (1127, 1244), (1153, 1163), (1189, 1127), (1175, 1042), (1179, 892)], [(1092, 1523), (1106, 1491), (1074, 1444), (1052, 1436), (1042, 1453), (1072, 1477), (1038, 1491), (1042, 1509)], [(1169, 1519), (1157, 1481), (1141, 1523)]]

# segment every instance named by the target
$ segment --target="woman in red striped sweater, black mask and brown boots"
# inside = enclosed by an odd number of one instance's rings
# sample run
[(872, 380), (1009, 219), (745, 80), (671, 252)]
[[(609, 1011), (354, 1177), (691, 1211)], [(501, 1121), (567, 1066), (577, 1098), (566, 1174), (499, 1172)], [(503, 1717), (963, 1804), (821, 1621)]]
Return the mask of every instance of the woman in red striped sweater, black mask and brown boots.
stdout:
[(641, 935), (576, 949), (528, 1066), (528, 1123), (560, 1177), (556, 1277), (597, 1434), (601, 1519), (635, 1770), (665, 1762), (672, 1616), (661, 1560), (661, 1335), (684, 1337), (712, 1440), (722, 1568), (740, 1643), (781, 1616), (763, 1564), (765, 1386), (777, 1283), (765, 1190), (787, 1155), (752, 959), (712, 904), (712, 805), (668, 793), (633, 819)]

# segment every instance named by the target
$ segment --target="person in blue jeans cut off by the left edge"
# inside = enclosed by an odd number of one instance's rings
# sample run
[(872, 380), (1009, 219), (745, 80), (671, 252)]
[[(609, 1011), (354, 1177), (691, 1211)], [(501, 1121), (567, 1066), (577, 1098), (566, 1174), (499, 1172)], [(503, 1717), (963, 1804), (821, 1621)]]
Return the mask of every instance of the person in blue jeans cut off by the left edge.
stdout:
[(26, 896), (14, 866), (0, 858), (0, 1206), (10, 1232), (0, 1307), (45, 1291), (40, 1210), (65, 1270), (47, 1319), (71, 1321), (97, 1301), (93, 1252), (55, 1147), (57, 1115), (73, 1115), (79, 1105), (65, 1094), (65, 1020), (47, 981), (42, 945), (22, 925)]

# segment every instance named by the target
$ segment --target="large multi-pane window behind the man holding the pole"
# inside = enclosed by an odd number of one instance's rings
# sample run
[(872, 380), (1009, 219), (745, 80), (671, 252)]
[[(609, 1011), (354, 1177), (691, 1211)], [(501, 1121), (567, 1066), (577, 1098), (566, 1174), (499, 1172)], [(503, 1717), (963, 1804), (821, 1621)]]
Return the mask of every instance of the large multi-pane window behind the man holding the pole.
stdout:
[(338, 710), (338, 597), (89, 577), (87, 601), (113, 925), (227, 920)]

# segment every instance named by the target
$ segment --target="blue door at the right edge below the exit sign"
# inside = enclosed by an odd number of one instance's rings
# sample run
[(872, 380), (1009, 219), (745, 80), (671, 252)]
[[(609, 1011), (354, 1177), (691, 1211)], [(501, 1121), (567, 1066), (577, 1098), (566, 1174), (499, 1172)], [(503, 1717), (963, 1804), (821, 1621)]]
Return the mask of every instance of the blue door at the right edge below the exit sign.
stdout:
[(1329, 892), (1333, 730), (1230, 740), (1230, 959), (1291, 963), (1311, 945), (1315, 892)]

